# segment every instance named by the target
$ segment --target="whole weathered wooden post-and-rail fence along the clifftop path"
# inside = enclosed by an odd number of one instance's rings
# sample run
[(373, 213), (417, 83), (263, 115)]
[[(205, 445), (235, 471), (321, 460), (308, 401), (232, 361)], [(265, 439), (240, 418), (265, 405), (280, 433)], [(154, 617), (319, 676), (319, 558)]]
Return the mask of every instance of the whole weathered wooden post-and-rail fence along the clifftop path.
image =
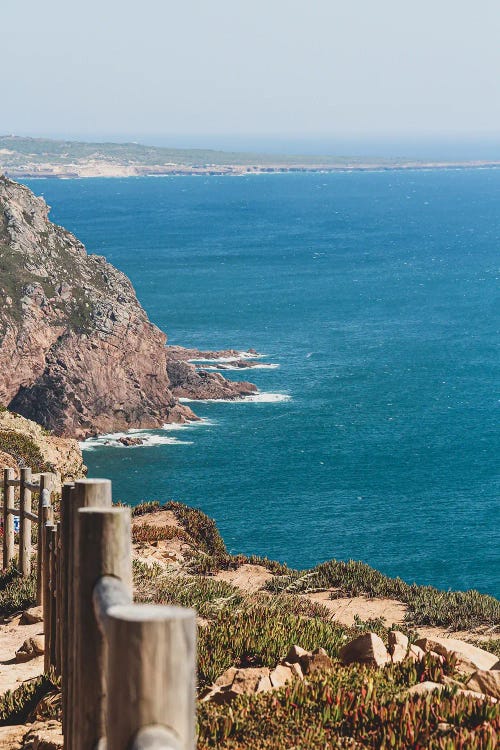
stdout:
[[(61, 677), (65, 749), (194, 750), (195, 612), (133, 603), (131, 513), (112, 507), (109, 480), (64, 484), (55, 521), (49, 477), (36, 486), (30, 478), (29, 469), (19, 480), (4, 472), (3, 560), (8, 565), (14, 554), (13, 523), (7, 529), (5, 519), (20, 487), (20, 531), (23, 519), (39, 524), (45, 669)], [(33, 491), (40, 493), (37, 516), (28, 507)], [(27, 536), (30, 544), (26, 525), (23, 575)]]

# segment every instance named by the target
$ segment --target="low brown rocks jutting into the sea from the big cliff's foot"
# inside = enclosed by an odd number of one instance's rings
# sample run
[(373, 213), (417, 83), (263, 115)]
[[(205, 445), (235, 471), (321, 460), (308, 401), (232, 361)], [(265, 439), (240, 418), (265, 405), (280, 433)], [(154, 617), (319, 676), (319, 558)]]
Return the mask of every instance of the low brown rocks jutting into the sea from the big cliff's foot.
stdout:
[(167, 359), (167, 373), (172, 393), (177, 398), (229, 399), (231, 401), (257, 392), (252, 383), (226, 380), (218, 372), (198, 370), (189, 362)]

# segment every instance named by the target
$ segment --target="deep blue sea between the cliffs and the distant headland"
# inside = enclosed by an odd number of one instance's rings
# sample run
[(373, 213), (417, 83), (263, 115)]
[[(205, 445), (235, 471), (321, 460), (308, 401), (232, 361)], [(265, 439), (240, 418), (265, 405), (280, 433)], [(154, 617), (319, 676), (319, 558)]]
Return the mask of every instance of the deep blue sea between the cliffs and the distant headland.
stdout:
[(500, 171), (27, 182), (170, 343), (279, 365), (243, 373), (260, 401), (94, 444), (116, 500), (198, 506), (232, 552), (500, 596)]

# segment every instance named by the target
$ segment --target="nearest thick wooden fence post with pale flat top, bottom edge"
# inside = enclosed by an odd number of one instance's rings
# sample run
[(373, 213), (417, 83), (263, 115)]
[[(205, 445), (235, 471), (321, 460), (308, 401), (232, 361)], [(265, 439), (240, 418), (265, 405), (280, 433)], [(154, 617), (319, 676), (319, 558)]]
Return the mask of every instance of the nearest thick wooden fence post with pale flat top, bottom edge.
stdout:
[(177, 738), (179, 750), (194, 750), (195, 612), (150, 604), (111, 607), (106, 635), (107, 750), (145, 748), (137, 744), (145, 728), (159, 727)]

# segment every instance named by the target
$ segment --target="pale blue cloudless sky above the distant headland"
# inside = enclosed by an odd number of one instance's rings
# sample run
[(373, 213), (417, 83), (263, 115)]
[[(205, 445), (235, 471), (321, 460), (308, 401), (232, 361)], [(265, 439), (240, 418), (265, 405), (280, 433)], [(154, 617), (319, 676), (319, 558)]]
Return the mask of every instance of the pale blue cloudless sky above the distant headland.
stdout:
[(500, 141), (498, 0), (4, 0), (0, 132)]

